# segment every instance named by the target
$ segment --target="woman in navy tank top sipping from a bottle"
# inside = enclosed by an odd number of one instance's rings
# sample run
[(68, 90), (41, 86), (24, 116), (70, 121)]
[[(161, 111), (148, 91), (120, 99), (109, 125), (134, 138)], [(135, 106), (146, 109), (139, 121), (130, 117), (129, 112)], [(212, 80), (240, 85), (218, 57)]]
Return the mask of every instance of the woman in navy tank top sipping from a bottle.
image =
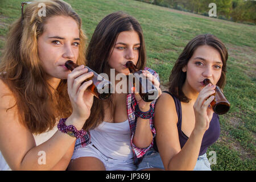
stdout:
[[(224, 88), (228, 51), (216, 36), (193, 38), (176, 60), (164, 91), (155, 106), (156, 142), (166, 170), (210, 170), (207, 148), (220, 135), (214, 113), (214, 88)], [(205, 78), (212, 84), (204, 85)], [(156, 152), (156, 155), (158, 152)], [(159, 155), (158, 154), (158, 155)], [(154, 162), (147, 161), (154, 167)]]

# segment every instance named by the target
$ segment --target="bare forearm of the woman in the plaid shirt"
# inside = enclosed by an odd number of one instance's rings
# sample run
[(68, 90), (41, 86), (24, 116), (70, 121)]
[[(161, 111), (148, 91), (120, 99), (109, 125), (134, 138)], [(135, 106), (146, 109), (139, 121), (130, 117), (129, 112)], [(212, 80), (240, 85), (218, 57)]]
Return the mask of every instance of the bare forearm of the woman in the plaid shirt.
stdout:
[(150, 128), (150, 119), (137, 118), (137, 125), (133, 138), (133, 143), (139, 148), (150, 146), (153, 135)]

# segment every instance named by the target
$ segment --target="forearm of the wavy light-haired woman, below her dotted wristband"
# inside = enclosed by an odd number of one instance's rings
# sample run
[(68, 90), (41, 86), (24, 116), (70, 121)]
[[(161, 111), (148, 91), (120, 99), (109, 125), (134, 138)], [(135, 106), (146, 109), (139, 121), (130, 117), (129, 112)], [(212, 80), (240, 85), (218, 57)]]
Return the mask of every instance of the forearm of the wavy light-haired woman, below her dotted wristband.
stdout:
[(31, 148), (17, 170), (51, 170), (60, 162), (75, 140), (76, 138), (57, 131), (51, 139)]

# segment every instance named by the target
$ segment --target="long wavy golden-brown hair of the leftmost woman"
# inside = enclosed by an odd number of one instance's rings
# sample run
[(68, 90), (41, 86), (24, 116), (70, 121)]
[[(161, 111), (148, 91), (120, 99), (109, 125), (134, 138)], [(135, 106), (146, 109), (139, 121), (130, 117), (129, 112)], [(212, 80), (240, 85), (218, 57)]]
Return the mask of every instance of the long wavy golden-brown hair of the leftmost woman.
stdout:
[[(38, 15), (39, 3), (46, 5), (46, 16)], [(44, 32), (44, 25), (48, 18), (57, 15), (70, 16), (76, 21), (81, 39), (77, 63), (85, 64), (86, 37), (81, 19), (68, 3), (44, 0), (27, 5), (23, 22), (19, 18), (11, 25), (0, 65), (0, 72), (4, 73), (1, 79), (15, 97), (20, 122), (36, 134), (52, 129), (57, 117), (68, 117), (72, 112), (67, 80), (61, 80), (52, 93), (38, 56), (38, 38)]]

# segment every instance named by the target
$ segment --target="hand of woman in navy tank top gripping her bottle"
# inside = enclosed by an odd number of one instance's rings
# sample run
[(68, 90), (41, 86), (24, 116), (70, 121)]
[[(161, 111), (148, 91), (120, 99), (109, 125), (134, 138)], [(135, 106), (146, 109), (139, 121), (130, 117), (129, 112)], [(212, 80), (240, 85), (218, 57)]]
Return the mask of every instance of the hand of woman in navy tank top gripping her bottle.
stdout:
[(199, 93), (199, 96), (193, 105), (196, 119), (194, 130), (205, 133), (205, 131), (209, 129), (209, 124), (214, 113), (212, 107), (209, 106), (210, 102), (214, 100), (214, 96), (211, 96), (215, 93), (214, 88), (215, 85), (212, 84), (205, 86)]

